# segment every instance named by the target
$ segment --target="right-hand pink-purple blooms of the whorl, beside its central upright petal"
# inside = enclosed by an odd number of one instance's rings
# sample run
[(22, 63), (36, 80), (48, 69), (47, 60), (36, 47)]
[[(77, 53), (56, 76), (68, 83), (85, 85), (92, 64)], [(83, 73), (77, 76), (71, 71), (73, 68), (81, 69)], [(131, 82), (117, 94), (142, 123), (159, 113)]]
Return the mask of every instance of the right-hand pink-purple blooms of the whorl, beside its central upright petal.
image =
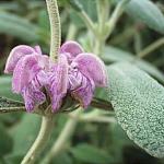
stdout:
[(75, 42), (67, 42), (60, 48), (69, 63), (68, 92), (86, 108), (93, 97), (95, 86), (106, 86), (105, 65), (93, 54), (83, 52)]

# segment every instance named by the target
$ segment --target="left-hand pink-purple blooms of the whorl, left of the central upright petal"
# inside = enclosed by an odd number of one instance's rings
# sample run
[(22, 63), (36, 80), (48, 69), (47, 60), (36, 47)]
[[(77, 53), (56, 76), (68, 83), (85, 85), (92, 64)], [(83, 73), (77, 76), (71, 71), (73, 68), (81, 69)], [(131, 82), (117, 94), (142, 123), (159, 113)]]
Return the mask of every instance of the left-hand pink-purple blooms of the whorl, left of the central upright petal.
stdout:
[(13, 73), (12, 90), (22, 94), (27, 112), (46, 101), (42, 89), (47, 83), (48, 70), (49, 59), (38, 46), (22, 45), (10, 52), (4, 72)]

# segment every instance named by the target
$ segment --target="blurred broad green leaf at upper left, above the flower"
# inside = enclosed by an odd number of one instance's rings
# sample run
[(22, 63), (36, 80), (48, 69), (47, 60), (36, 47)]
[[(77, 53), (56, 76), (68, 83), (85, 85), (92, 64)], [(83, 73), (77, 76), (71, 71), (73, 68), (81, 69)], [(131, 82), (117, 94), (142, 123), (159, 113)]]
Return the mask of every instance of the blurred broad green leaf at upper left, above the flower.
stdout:
[(0, 33), (5, 33), (25, 42), (36, 42), (37, 27), (25, 19), (13, 13), (0, 13)]

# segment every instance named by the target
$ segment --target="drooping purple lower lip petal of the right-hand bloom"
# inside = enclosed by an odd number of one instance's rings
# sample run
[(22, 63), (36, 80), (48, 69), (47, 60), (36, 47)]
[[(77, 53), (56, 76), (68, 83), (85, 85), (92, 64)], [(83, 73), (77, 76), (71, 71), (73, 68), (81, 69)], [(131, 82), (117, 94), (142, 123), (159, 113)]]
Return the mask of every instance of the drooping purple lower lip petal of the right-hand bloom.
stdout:
[(94, 94), (94, 82), (83, 77), (82, 85), (79, 89), (72, 91), (71, 95), (80, 102), (83, 108), (87, 108), (91, 104)]

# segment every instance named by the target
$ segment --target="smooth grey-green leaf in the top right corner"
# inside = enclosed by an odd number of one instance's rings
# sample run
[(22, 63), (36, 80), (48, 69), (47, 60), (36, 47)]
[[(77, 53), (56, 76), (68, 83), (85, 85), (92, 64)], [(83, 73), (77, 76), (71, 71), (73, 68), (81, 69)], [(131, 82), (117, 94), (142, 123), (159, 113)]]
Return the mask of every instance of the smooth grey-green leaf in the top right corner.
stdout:
[(131, 0), (127, 5), (127, 13), (164, 34), (164, 15), (150, 0)]

